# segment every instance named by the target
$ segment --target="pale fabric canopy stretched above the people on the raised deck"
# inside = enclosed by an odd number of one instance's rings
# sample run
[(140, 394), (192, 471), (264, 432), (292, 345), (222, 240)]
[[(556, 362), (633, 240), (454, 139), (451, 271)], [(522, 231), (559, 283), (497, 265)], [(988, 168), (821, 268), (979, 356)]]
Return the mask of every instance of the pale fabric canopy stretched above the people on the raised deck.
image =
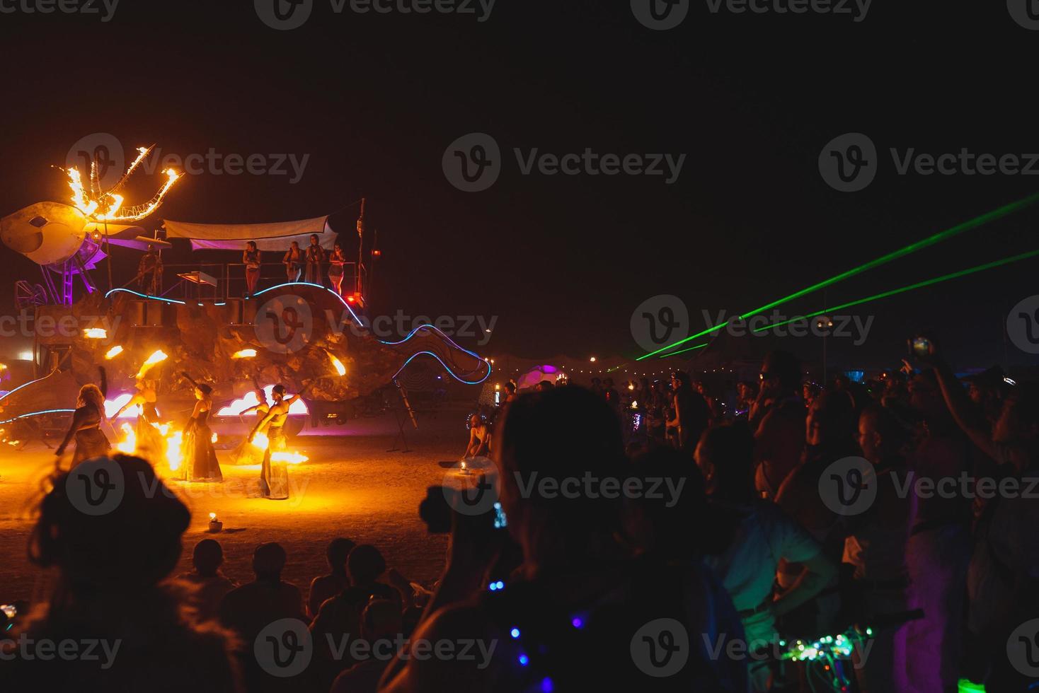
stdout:
[(328, 225), (328, 217), (273, 224), (192, 224), (167, 219), (162, 223), (167, 239), (190, 239), (191, 250), (244, 250), (246, 241), (256, 241), (260, 250), (285, 251), (293, 241), (307, 247), (313, 233), (317, 233), (325, 250), (336, 245), (336, 231)]

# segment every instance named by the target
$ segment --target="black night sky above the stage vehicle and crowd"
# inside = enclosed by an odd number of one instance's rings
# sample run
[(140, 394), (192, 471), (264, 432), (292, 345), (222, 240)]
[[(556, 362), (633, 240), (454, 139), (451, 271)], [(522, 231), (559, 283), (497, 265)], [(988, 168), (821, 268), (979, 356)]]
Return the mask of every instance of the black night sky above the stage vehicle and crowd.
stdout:
[[(692, 2), (668, 31), (644, 27), (628, 2), (603, 0), (499, 0), (484, 22), (336, 13), (315, 0), (291, 31), (265, 26), (241, 0), (122, 0), (108, 22), (4, 13), (0, 215), (63, 199), (49, 166), (97, 132), (128, 149), (155, 142), (181, 156), (309, 155), (296, 184), (189, 176), (143, 225), (296, 219), (364, 195), (383, 250), (376, 312), (497, 315), (483, 349), (491, 354), (637, 355), (629, 321), (649, 297), (681, 297), (698, 330), (701, 309), (756, 307), (1039, 190), (1029, 175), (898, 175), (887, 153), (1039, 151), (1039, 31), (1018, 26), (1005, 3), (970, 4), (878, 1), (855, 22), (714, 13)], [(503, 170), (488, 190), (465, 193), (446, 179), (442, 157), (473, 132), (496, 139)], [(880, 153), (876, 179), (855, 193), (832, 189), (818, 168), (824, 145), (848, 132), (867, 134)], [(686, 160), (672, 185), (523, 175), (513, 147)], [(141, 177), (134, 190), (143, 200), (158, 178)], [(348, 210), (331, 220), (350, 243), (355, 218)], [(1039, 207), (1018, 213), (826, 298), (832, 305), (1039, 248), (1037, 223)], [(37, 271), (0, 253), (12, 268), (0, 295), (9, 311), (10, 283), (35, 281)], [(831, 340), (834, 358), (897, 362), (910, 332), (937, 326), (959, 365), (1001, 361), (1005, 316), (1039, 294), (1037, 267), (863, 306), (859, 314), (875, 316), (869, 339)], [(1006, 356), (1031, 358), (1012, 344)]]

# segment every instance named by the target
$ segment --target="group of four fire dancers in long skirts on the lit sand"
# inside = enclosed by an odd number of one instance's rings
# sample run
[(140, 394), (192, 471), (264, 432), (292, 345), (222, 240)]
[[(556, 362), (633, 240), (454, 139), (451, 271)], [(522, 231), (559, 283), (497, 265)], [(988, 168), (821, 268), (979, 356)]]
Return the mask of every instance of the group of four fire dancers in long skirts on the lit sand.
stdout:
[[(101, 385), (88, 383), (80, 388), (73, 413), (72, 424), (61, 443), (55, 449), (56, 465), (70, 443), (75, 444), (72, 455), (72, 467), (87, 460), (104, 458), (111, 451), (111, 443), (103, 431), (107, 426), (114, 434), (111, 421), (105, 416), (105, 397), (107, 384), (105, 370), (101, 368)], [(216, 449), (213, 446), (213, 432), (209, 427), (209, 416), (213, 409), (213, 388), (205, 383), (197, 383), (188, 373), (181, 373), (193, 387), (195, 404), (191, 416), (184, 425), (180, 446), (181, 464), (174, 472), (172, 478), (181, 481), (222, 481), (223, 474), (217, 461)], [(242, 414), (255, 411), (257, 423), (248, 436), (235, 448), (232, 462), (236, 465), (260, 464), (260, 495), (271, 500), (285, 500), (289, 497), (289, 473), (287, 463), (274, 454), (287, 449), (285, 423), (289, 416), (289, 408), (294, 400), (301, 397), (311, 384), (296, 394), (287, 394), (284, 385), (275, 385), (271, 389), (273, 403), (268, 403), (264, 390), (256, 385), (255, 394), (259, 404), (246, 409)], [(135, 393), (111, 419), (117, 419), (124, 411), (133, 407), (139, 408), (135, 429), (137, 452), (145, 459), (163, 459), (167, 443), (156, 427), (159, 414), (156, 409), (156, 384), (145, 377), (138, 377)], [(267, 445), (263, 449), (255, 445), (257, 436), (265, 435)]]

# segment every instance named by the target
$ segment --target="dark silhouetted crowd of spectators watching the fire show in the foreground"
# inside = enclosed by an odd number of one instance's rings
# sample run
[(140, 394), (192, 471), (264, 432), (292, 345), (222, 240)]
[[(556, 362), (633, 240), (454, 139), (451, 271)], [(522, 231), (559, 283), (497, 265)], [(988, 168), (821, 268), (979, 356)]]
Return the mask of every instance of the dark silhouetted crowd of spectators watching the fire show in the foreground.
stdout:
[[(336, 693), (1035, 685), (1008, 646), (1039, 617), (1031, 384), (990, 371), (964, 387), (936, 342), (864, 383), (805, 383), (776, 352), (730, 393), (684, 372), (619, 390), (544, 387), (510, 391), (495, 420), (476, 423), (469, 449), (496, 465), (469, 479), (470, 506), (452, 506), (429, 591), (345, 537), (329, 542), (328, 573), (307, 594), (282, 579), (291, 555), (272, 543), (256, 548), (244, 584), (221, 573), (212, 538), (174, 577), (190, 517), (146, 462), (103, 459), (146, 482), (96, 515), (70, 482), (86, 467), (57, 474), (29, 550), (58, 583), (8, 631), (0, 681)], [(981, 479), (997, 492), (981, 493)], [(869, 502), (849, 509), (858, 501), (845, 492), (865, 490)], [(484, 493), (496, 503), (476, 511)], [(271, 630), (285, 623), (297, 630)], [(852, 623), (869, 647), (850, 648), (836, 688), (812, 681), (810, 659), (780, 656), (793, 636)], [(16, 652), (19, 638), (117, 652), (107, 667), (44, 660)]]

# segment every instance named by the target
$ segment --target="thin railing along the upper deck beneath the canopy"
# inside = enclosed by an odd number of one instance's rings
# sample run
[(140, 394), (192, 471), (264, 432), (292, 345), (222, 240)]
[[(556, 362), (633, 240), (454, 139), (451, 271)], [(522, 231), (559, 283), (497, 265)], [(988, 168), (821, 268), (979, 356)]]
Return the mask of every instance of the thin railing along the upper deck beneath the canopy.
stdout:
[[(331, 279), (328, 276), (328, 262), (321, 264), (321, 283), (332, 288)], [(189, 273), (202, 273), (212, 278), (215, 285), (210, 283), (193, 282), (184, 279), (181, 275)], [(302, 266), (298, 281), (307, 280), (307, 266)], [(263, 262), (260, 265), (260, 278), (257, 280), (256, 290), (284, 284), (287, 281), (296, 281), (295, 277), (289, 277), (287, 267), (282, 262)], [(341, 290), (344, 296), (354, 294), (358, 290), (366, 290), (367, 272), (361, 266), (359, 282), (356, 262), (346, 262), (343, 265), (343, 283)], [(358, 288), (359, 287), (359, 288)], [(140, 283), (137, 279), (131, 280), (124, 285), (124, 288), (151, 293), (151, 278), (143, 278)], [(242, 262), (197, 262), (164, 265), (162, 268), (162, 283), (159, 284), (156, 296), (171, 299), (215, 299), (228, 300), (229, 298), (242, 298), (247, 293), (245, 283), (245, 265)]]

